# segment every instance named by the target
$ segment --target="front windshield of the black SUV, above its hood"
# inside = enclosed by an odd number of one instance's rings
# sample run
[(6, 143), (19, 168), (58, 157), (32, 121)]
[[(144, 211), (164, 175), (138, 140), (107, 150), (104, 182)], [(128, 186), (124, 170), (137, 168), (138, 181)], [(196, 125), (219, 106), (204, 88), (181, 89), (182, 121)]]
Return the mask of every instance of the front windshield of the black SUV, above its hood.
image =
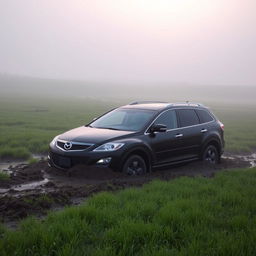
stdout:
[(153, 117), (155, 111), (141, 109), (116, 109), (92, 122), (89, 126), (124, 131), (140, 131)]

